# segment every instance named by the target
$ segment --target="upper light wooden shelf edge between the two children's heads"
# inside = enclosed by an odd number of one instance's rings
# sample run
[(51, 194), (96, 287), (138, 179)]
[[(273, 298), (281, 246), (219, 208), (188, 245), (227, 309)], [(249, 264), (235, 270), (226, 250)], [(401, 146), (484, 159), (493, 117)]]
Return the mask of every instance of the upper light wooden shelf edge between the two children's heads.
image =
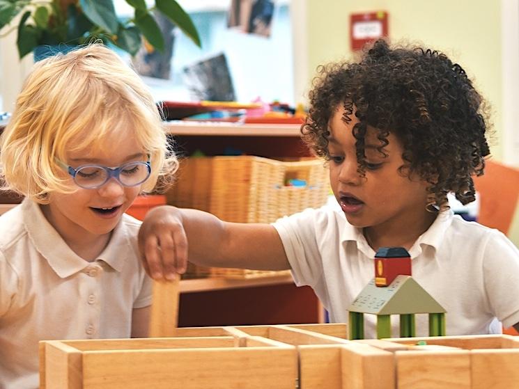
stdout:
[(298, 138), (300, 125), (240, 125), (227, 122), (166, 122), (170, 134), (202, 136), (293, 136)]

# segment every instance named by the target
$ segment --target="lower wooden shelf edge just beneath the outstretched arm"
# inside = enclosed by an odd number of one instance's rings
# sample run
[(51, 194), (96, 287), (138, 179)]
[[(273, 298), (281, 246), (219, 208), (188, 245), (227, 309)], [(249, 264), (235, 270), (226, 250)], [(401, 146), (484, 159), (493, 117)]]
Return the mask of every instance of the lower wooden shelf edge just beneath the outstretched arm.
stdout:
[(290, 274), (256, 278), (194, 278), (180, 281), (180, 293), (209, 292), (223, 289), (237, 289), (243, 287), (261, 287), (270, 285), (293, 284)]

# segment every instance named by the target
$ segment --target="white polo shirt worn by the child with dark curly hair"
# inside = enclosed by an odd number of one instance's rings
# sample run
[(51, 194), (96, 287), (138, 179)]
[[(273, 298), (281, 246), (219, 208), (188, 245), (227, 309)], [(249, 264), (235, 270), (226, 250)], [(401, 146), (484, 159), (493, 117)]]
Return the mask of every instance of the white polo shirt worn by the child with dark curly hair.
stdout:
[[(374, 278), (375, 251), (362, 229), (330, 206), (273, 225), (296, 285), (310, 285), (330, 321), (346, 323), (348, 306)], [(444, 212), (410, 255), (413, 278), (447, 310), (447, 335), (497, 333), (496, 317), (506, 327), (519, 322), (519, 251), (501, 232)], [(428, 315), (415, 320), (417, 336), (428, 335)], [(375, 338), (375, 323), (375, 315), (364, 315), (366, 338)], [(398, 336), (398, 316), (392, 324)]]

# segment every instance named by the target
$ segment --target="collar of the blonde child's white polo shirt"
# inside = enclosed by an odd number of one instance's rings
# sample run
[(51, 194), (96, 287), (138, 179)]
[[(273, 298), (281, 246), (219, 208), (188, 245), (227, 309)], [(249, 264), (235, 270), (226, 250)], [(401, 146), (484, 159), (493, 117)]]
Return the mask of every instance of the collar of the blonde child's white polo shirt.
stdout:
[[(29, 239), (31, 239), (38, 253), (47, 260), (49, 266), (60, 278), (72, 276), (72, 274), (82, 271), (92, 263), (72, 251), (47, 221), (38, 203), (25, 198), (22, 203), (22, 214)], [(96, 261), (102, 260), (114, 270), (122, 271), (127, 255), (135, 255), (133, 252), (126, 253), (125, 251), (132, 250), (124, 225), (119, 222), (112, 232), (109, 244)]]

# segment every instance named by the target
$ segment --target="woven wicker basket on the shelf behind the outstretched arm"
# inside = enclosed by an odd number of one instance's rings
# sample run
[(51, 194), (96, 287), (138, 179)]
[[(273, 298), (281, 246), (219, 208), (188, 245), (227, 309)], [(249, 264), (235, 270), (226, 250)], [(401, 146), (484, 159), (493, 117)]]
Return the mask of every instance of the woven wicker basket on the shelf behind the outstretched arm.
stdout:
[[(290, 179), (306, 186), (286, 186)], [(210, 212), (235, 223), (271, 223), (308, 207), (324, 205), (330, 191), (320, 159), (278, 161), (253, 156), (196, 157), (180, 164), (168, 203)], [(203, 276), (207, 268), (191, 269)], [(256, 278), (279, 272), (211, 268), (212, 276)], [(189, 271), (188, 271), (189, 276)], [(191, 275), (192, 276), (192, 275)]]

